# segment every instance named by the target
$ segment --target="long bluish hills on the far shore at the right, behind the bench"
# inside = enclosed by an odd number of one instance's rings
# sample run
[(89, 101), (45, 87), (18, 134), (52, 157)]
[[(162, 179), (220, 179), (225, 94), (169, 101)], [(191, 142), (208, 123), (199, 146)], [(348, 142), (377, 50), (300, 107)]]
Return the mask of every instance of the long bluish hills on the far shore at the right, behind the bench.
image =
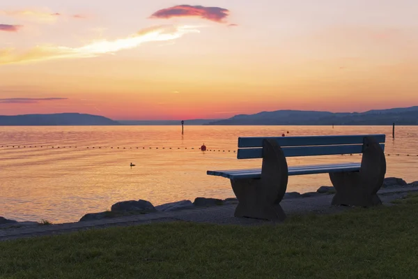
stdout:
[(418, 125), (418, 106), (368, 112), (277, 110), (240, 114), (204, 125)]

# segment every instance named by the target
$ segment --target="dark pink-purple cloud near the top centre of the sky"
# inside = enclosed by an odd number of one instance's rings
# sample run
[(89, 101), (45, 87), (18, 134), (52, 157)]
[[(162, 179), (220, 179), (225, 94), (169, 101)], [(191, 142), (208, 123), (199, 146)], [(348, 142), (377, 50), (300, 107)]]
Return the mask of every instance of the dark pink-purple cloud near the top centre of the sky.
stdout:
[(213, 22), (225, 23), (229, 16), (229, 10), (219, 7), (179, 5), (171, 8), (157, 10), (151, 18), (171, 18), (171, 17), (201, 17)]

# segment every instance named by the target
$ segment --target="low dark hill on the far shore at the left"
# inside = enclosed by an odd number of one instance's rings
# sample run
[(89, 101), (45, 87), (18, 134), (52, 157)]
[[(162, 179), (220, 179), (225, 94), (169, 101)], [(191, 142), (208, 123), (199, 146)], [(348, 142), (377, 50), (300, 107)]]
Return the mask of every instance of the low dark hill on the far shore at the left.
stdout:
[(112, 126), (121, 125), (104, 116), (79, 113), (1, 116), (0, 126)]

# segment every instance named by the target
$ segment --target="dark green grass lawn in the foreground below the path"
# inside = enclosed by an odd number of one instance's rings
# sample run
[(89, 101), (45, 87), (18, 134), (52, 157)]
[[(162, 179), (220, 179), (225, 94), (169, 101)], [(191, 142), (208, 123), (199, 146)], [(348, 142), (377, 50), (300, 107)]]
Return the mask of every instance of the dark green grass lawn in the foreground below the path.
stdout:
[(282, 225), (164, 223), (0, 242), (0, 278), (417, 278), (418, 196)]

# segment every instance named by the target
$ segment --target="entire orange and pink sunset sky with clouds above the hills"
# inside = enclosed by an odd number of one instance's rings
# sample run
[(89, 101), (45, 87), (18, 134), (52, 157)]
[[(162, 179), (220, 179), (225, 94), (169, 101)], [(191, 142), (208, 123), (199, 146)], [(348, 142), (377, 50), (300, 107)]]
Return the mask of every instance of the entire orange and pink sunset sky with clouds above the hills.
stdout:
[(0, 115), (418, 105), (416, 0), (0, 3)]

